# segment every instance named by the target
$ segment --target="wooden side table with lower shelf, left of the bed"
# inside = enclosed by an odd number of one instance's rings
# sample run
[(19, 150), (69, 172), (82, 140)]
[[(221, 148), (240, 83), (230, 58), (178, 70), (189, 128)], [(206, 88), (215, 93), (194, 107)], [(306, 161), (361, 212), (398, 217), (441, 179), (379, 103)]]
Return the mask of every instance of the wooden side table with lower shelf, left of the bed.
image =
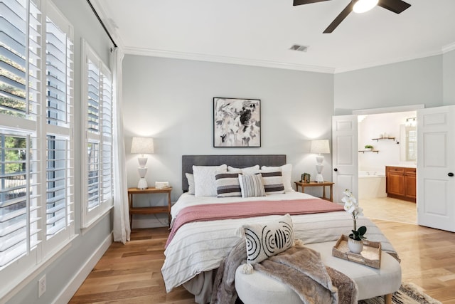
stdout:
[[(157, 189), (155, 187), (149, 187), (147, 189), (128, 188), (128, 205), (129, 205), (129, 227), (132, 227), (133, 214), (168, 214), (168, 223), (171, 225), (171, 191), (172, 187)], [(134, 207), (133, 206), (133, 194), (157, 194), (167, 193), (168, 194), (168, 205), (167, 206), (153, 206), (153, 207)]]

